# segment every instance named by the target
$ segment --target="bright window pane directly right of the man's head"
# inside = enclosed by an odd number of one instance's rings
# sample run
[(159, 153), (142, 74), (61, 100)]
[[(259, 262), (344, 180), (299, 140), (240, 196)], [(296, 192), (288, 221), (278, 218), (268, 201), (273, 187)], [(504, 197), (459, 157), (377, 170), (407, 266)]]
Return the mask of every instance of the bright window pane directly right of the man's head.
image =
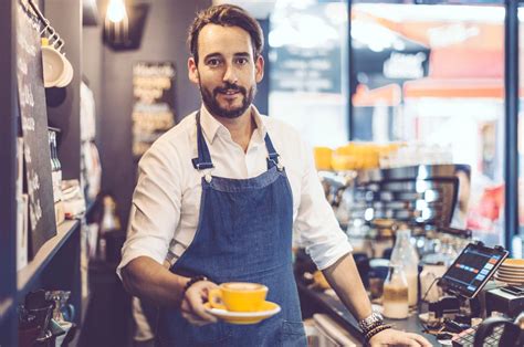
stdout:
[(347, 4), (277, 1), (270, 27), (269, 115), (313, 146), (347, 143)]

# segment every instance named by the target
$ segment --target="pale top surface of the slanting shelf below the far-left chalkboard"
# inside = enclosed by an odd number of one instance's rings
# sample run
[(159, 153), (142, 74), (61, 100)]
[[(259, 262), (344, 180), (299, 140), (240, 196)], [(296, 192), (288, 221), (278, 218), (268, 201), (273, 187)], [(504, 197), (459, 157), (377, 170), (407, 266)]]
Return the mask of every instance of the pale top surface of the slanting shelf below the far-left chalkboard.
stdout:
[(78, 228), (78, 220), (66, 220), (59, 225), (56, 235), (45, 242), (34, 259), (18, 273), (18, 291), (25, 292), (31, 286), (33, 280), (45, 269), (45, 265), (53, 259), (53, 255), (62, 248), (71, 234)]

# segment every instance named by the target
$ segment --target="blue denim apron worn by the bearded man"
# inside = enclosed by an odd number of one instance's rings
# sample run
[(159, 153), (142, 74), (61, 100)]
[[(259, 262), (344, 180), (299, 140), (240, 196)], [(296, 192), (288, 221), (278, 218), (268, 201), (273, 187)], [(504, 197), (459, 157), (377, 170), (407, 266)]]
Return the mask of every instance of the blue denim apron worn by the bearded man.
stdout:
[[(197, 114), (197, 170), (213, 167)], [(269, 287), (268, 301), (282, 311), (255, 325), (224, 322), (197, 327), (178, 308), (160, 309), (160, 346), (306, 346), (292, 267), (293, 198), (269, 135), (268, 171), (249, 179), (206, 175), (193, 241), (170, 269), (210, 281), (255, 282)]]

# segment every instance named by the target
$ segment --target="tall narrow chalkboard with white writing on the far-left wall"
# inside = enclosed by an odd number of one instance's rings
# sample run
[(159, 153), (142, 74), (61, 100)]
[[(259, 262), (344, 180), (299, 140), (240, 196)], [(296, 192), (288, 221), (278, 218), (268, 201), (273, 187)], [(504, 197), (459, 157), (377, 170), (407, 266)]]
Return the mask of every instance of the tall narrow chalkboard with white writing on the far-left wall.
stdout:
[(39, 25), (17, 10), (17, 80), (29, 194), (30, 256), (56, 234)]

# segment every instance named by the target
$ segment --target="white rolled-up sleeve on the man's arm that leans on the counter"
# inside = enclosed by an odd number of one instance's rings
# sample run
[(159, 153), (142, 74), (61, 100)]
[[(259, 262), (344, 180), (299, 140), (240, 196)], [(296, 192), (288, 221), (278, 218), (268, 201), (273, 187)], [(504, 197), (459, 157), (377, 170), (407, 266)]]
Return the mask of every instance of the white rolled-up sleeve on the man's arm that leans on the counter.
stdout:
[(300, 238), (300, 244), (305, 248), (316, 266), (324, 270), (352, 252), (353, 248), (324, 196), (314, 166), (313, 151), (304, 143), (302, 143), (302, 154), (304, 175), (294, 228)]

